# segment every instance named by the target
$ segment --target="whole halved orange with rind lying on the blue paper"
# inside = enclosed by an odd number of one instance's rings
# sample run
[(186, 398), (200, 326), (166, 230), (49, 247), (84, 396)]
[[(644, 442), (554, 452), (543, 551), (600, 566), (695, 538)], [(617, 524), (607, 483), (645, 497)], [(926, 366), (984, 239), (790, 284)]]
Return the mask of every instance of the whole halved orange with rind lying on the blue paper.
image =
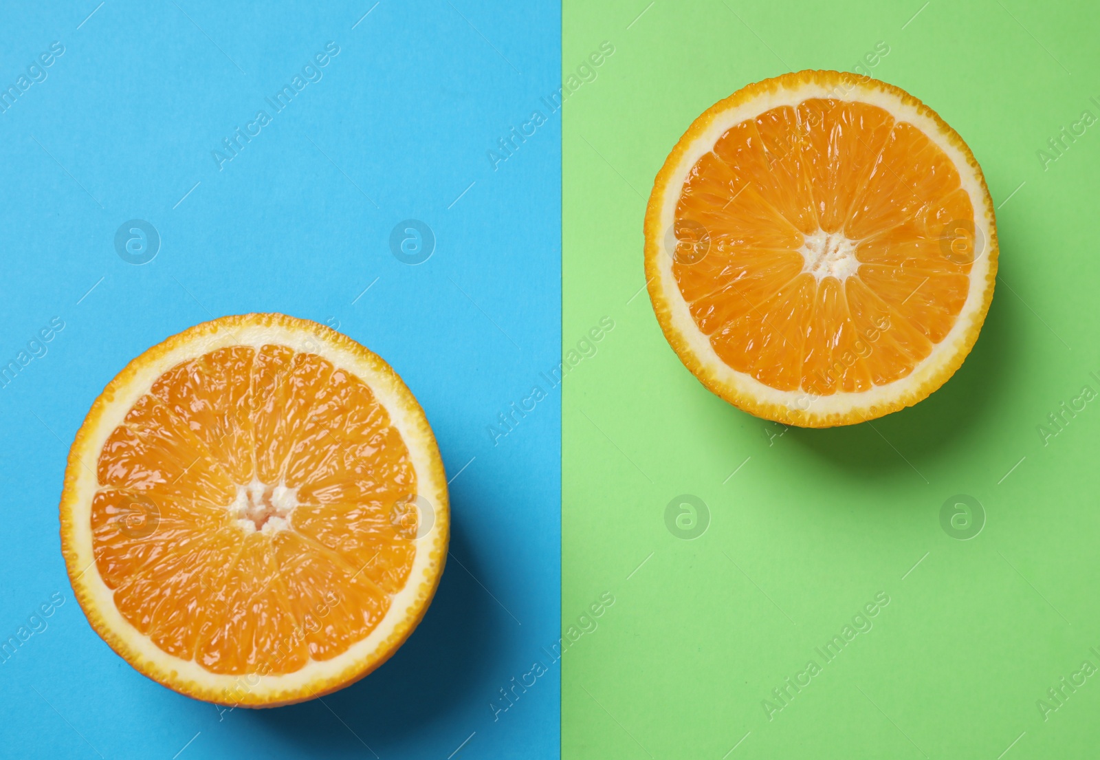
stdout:
[(62, 549), (92, 628), (189, 696), (274, 706), (385, 662), (447, 558), (431, 428), (382, 359), (283, 315), (133, 360), (76, 436)]

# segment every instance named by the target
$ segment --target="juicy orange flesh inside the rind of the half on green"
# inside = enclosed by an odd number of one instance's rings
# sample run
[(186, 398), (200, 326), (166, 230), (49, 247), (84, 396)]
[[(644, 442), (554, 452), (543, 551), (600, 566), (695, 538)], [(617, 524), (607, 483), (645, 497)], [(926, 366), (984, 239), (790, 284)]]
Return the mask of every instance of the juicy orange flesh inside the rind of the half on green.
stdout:
[[(688, 175), (674, 232), (672, 273), (718, 357), (818, 396), (909, 375), (955, 324), (975, 251), (944, 152), (883, 109), (833, 99), (723, 134)], [(809, 271), (800, 249), (825, 235), (850, 247), (850, 271)]]

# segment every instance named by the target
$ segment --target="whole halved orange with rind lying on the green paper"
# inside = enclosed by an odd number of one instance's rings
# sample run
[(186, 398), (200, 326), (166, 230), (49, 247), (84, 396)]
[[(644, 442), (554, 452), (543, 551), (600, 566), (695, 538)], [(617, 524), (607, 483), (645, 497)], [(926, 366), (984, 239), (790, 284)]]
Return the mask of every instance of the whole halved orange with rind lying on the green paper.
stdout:
[(916, 404), (961, 365), (997, 277), (993, 206), (963, 139), (903, 90), (838, 71), (749, 85), (657, 175), (646, 279), (712, 392), (829, 427)]

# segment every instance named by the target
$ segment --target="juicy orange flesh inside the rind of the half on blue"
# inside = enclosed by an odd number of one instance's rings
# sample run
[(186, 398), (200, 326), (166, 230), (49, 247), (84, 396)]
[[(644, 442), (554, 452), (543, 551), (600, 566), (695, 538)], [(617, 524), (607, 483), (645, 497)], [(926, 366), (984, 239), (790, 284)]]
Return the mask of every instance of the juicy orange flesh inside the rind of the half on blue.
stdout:
[(286, 346), (165, 372), (103, 444), (98, 480), (92, 547), (116, 606), (213, 673), (340, 654), (382, 620), (416, 554), (403, 508), (416, 473), (386, 410), (354, 375)]

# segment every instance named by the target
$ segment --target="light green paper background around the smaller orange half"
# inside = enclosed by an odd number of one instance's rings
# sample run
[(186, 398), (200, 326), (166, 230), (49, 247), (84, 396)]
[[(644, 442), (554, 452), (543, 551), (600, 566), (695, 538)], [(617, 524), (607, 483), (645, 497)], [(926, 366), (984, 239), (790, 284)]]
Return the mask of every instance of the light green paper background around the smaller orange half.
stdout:
[[(600, 328), (563, 384), (563, 757), (1094, 756), (1100, 673), (1045, 719), (1036, 703), (1084, 661), (1100, 668), (1100, 397), (1045, 442), (1038, 426), (1082, 386), (1100, 392), (1100, 123), (1045, 167), (1037, 152), (1084, 110), (1100, 118), (1100, 10), (566, 0), (563, 13), (566, 82), (614, 46), (562, 109), (566, 357)], [(787, 70), (850, 70), (880, 42), (871, 74), (938, 111), (981, 163), (997, 291), (970, 357), (925, 401), (873, 426), (784, 430), (710, 394), (666, 343), (642, 289), (645, 205), (712, 103)], [(682, 494), (710, 511), (694, 540), (666, 526)], [(958, 494), (985, 511), (969, 540), (941, 527)], [(815, 648), (879, 593), (872, 628), (826, 663)], [(810, 660), (821, 673), (769, 719), (762, 701)]]

